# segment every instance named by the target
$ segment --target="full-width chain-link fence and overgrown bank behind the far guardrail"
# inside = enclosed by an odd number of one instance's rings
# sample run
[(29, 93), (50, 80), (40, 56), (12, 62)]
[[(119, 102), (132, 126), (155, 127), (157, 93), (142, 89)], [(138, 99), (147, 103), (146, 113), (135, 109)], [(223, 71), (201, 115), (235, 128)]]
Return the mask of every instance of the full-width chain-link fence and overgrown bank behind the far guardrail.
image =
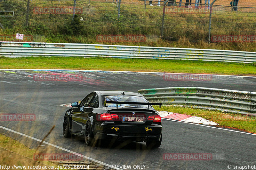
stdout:
[[(191, 42), (235, 42), (246, 36), (247, 42), (255, 41), (256, 3), (229, 1), (1, 0), (0, 26), (2, 35), (27, 34), (24, 41), (48, 41), (60, 35), (73, 36), (71, 42), (76, 42), (76, 36), (107, 42), (127, 38), (120, 35), (174, 41), (186, 37)], [(2, 36), (1, 40), (9, 39)]]

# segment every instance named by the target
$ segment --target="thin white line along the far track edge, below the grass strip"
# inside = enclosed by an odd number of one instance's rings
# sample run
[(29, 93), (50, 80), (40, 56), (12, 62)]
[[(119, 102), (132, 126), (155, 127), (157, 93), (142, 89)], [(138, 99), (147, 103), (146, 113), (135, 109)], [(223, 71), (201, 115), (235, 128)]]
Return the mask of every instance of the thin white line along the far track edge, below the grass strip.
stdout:
[[(51, 70), (51, 71), (90, 71), (90, 72), (117, 72), (117, 73), (150, 73), (150, 74), (196, 74), (196, 73), (167, 73), (167, 72), (143, 72), (143, 71), (111, 71), (111, 70), (72, 70), (72, 69), (9, 69), (2, 68), (0, 70)], [(197, 75), (197, 74), (196, 74)], [(249, 77), (256, 78), (256, 76), (244, 76), (244, 75), (223, 75), (223, 74), (202, 74), (202, 75), (213, 75), (213, 76), (224, 76), (224, 77)]]

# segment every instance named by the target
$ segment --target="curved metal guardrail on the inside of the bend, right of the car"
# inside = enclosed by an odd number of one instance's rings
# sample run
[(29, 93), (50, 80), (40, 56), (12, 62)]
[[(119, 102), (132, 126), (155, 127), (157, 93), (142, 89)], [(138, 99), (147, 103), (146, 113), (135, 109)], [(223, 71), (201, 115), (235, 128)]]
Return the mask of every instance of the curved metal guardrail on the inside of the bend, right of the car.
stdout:
[(182, 104), (210, 110), (221, 110), (256, 116), (256, 92), (202, 87), (168, 87), (141, 89), (149, 102)]

